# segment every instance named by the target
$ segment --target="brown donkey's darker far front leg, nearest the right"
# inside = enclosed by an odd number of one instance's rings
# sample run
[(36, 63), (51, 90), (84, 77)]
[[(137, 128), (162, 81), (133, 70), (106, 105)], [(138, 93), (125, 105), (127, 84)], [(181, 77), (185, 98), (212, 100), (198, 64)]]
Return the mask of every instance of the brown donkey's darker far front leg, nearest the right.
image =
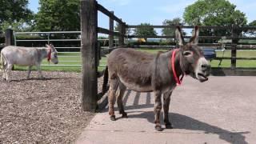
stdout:
[(172, 91), (167, 91), (163, 94), (163, 111), (164, 111), (164, 122), (166, 125), (166, 129), (172, 129), (171, 123), (169, 121), (169, 106), (170, 106), (170, 95)]

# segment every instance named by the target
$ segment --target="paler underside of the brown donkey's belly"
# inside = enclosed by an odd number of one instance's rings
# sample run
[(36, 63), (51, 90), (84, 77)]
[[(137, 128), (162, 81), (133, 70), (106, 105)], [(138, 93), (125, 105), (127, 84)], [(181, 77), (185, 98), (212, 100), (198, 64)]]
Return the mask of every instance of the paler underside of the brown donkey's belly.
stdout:
[(126, 82), (122, 78), (119, 78), (122, 84), (124, 84), (128, 89), (138, 91), (138, 92), (151, 92), (153, 91), (152, 86), (148, 84), (137, 84), (135, 82)]

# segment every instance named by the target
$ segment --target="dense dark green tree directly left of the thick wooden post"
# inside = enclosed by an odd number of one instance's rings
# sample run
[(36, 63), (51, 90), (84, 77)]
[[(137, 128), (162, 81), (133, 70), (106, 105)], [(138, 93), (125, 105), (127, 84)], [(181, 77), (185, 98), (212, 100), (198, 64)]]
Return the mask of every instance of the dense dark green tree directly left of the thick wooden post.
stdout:
[(79, 0), (39, 0), (35, 18), (40, 31), (80, 30)]

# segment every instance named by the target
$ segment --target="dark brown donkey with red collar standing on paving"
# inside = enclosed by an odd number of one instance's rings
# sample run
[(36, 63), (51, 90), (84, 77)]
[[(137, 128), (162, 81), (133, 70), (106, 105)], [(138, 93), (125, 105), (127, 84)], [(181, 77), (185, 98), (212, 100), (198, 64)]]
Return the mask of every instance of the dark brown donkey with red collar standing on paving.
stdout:
[[(104, 74), (106, 78), (103, 84), (103, 90), (106, 90), (106, 82), (109, 77), (110, 119), (116, 120), (114, 115), (116, 96), (119, 113), (122, 114), (122, 118), (127, 118), (122, 104), (122, 96), (126, 88), (138, 92), (154, 91), (155, 130), (162, 130), (160, 124), (162, 94), (164, 122), (166, 128), (172, 128), (168, 118), (170, 95), (174, 88), (181, 83), (183, 74), (190, 74), (192, 78), (198, 79), (200, 82), (207, 81), (210, 75), (210, 64), (204, 58), (202, 49), (197, 46), (198, 34), (198, 26), (195, 26), (190, 42), (185, 45), (182, 30), (177, 26), (175, 36), (178, 39), (179, 48), (156, 55), (129, 48), (113, 50), (108, 57)], [(182, 78), (180, 78), (181, 76)], [(118, 94), (117, 90), (119, 90)]]

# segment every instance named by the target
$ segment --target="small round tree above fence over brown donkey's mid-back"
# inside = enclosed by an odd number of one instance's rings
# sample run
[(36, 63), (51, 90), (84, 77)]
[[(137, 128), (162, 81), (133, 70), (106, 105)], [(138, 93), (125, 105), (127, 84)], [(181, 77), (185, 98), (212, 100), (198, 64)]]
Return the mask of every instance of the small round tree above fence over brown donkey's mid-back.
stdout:
[[(141, 23), (140, 26), (150, 26), (150, 23)], [(143, 37), (143, 36), (155, 36), (158, 33), (154, 30), (153, 27), (139, 27), (134, 29), (134, 34)]]

